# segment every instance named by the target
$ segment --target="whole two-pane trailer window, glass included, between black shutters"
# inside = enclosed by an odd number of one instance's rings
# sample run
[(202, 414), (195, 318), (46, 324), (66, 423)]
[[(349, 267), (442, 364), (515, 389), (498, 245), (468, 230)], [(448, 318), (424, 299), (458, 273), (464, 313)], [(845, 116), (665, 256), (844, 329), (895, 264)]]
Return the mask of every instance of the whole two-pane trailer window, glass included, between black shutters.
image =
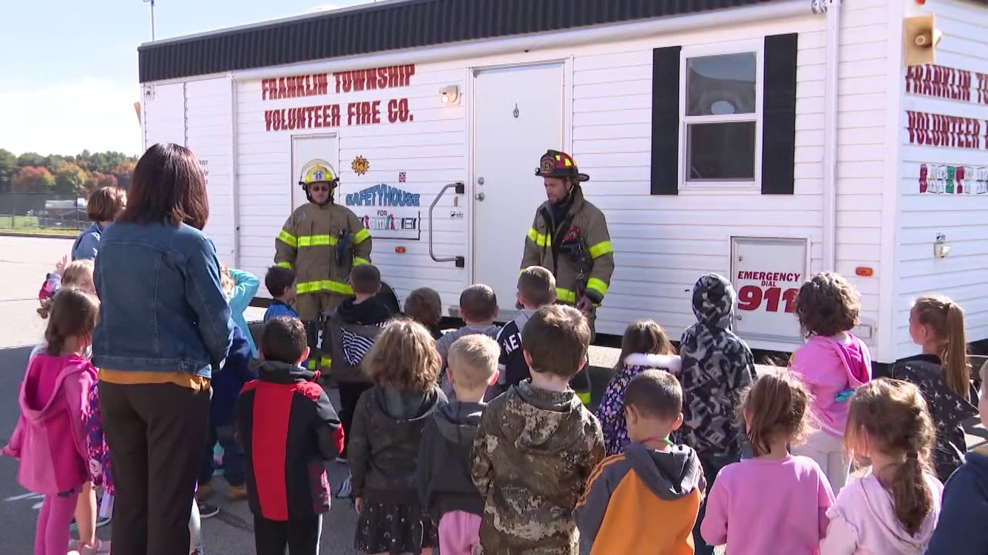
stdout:
[(761, 162), (760, 52), (684, 49), (680, 175), (687, 187), (754, 187)]

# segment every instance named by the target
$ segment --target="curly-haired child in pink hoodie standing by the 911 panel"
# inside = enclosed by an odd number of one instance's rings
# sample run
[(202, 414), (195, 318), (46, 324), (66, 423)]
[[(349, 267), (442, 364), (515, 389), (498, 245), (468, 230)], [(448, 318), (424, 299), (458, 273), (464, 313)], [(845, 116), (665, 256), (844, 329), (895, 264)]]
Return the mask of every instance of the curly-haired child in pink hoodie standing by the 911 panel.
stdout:
[(799, 288), (795, 313), (809, 340), (793, 355), (790, 369), (813, 395), (810, 415), (818, 430), (792, 452), (815, 460), (837, 494), (851, 466), (842, 444), (848, 400), (871, 379), (867, 346), (851, 333), (859, 324), (861, 295), (847, 279), (823, 272)]

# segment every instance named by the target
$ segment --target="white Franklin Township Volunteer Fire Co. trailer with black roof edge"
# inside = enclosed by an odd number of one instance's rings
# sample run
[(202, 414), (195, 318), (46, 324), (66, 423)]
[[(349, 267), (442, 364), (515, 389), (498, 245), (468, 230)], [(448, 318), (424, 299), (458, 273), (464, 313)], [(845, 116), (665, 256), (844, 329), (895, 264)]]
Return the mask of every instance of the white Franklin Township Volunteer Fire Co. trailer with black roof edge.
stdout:
[[(834, 270), (891, 361), (917, 351), (926, 292), (988, 338), (988, 5), (923, 4), (405, 0), (158, 40), (138, 49), (143, 140), (200, 156), (207, 231), (258, 276), (305, 201), (299, 169), (330, 161), (385, 280), (450, 315), (471, 282), (511, 312), (535, 166), (562, 149), (616, 252), (600, 332), (678, 336), (718, 272), (736, 331), (791, 351), (794, 290)], [(907, 65), (933, 25), (935, 63)]]

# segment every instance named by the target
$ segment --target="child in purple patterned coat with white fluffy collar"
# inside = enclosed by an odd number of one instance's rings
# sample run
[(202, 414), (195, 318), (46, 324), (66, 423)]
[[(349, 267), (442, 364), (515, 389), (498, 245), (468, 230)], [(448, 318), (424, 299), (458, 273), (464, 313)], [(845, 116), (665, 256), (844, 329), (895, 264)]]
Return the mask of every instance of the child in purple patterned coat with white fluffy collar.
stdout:
[(678, 374), (680, 357), (662, 326), (653, 320), (632, 322), (624, 330), (620, 342), (620, 357), (615, 366), (617, 373), (611, 378), (604, 400), (597, 408), (608, 455), (616, 455), (631, 442), (624, 419), (624, 389), (634, 376), (649, 368)]

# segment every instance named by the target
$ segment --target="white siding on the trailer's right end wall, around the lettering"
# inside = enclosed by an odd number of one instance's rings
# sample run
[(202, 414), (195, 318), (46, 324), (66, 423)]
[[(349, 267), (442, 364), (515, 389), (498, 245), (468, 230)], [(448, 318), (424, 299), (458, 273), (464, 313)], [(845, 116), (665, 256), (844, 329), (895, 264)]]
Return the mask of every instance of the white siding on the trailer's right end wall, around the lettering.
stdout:
[[(915, 8), (912, 2), (906, 2)], [(977, 74), (988, 74), (988, 9), (983, 3), (942, 0), (923, 8), (935, 13), (944, 40), (937, 48), (937, 65), (971, 73), (969, 99), (947, 99), (907, 92), (901, 114), (900, 222), (896, 254), (895, 354), (905, 357), (919, 351), (909, 337), (911, 301), (926, 293), (947, 294), (967, 313), (970, 340), (988, 337), (988, 194), (977, 194), (973, 178), (965, 176), (972, 194), (921, 194), (920, 169), (932, 166), (988, 168), (988, 99), (979, 96)], [(907, 15), (918, 15), (915, 12)], [(906, 70), (901, 70), (905, 84)], [(981, 85), (988, 87), (988, 83)], [(965, 87), (966, 88), (966, 87)], [(910, 141), (907, 111), (969, 118), (980, 121), (979, 148), (933, 146)], [(951, 250), (936, 259), (938, 233), (947, 236)]]

